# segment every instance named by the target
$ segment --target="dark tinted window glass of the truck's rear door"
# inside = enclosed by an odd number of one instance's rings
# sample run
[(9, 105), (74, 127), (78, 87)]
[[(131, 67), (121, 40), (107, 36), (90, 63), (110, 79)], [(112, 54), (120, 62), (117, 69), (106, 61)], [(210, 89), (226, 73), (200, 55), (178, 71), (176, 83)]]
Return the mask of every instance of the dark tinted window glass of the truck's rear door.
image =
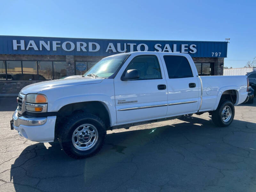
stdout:
[(190, 64), (186, 57), (179, 55), (164, 55), (169, 79), (193, 77)]

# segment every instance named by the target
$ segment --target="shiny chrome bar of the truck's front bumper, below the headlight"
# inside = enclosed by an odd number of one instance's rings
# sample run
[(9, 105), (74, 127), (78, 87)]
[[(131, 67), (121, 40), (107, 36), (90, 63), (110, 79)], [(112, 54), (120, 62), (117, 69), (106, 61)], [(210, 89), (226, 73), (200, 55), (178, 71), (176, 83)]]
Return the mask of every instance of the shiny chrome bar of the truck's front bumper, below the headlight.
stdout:
[(34, 117), (34, 116), (18, 116), (18, 110), (12, 115), (13, 125), (19, 127), (20, 125), (36, 126), (45, 124), (47, 117)]

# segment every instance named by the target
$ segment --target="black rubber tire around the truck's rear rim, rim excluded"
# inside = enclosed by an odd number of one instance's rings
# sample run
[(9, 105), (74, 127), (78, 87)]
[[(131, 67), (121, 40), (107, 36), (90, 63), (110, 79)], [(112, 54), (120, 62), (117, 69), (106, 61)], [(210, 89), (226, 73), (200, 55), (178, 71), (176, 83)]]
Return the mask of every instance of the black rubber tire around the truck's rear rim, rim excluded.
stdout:
[[(226, 106), (229, 106), (229, 108), (231, 109), (231, 117), (227, 122), (225, 122), (222, 119), (222, 110)], [(230, 100), (222, 100), (222, 101), (220, 100), (220, 103), (217, 109), (215, 111), (212, 111), (212, 121), (215, 125), (219, 127), (227, 127), (228, 125), (230, 125), (234, 119), (234, 116), (235, 116), (235, 107)]]

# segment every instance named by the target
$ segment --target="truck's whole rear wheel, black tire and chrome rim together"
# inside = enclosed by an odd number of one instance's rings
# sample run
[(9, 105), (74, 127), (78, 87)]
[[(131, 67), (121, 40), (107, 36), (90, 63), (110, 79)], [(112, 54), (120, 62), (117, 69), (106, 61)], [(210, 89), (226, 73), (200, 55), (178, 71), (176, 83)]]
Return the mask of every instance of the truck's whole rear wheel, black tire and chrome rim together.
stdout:
[(212, 111), (212, 121), (215, 125), (220, 127), (227, 127), (230, 125), (235, 116), (235, 107), (230, 100), (220, 102), (218, 108)]

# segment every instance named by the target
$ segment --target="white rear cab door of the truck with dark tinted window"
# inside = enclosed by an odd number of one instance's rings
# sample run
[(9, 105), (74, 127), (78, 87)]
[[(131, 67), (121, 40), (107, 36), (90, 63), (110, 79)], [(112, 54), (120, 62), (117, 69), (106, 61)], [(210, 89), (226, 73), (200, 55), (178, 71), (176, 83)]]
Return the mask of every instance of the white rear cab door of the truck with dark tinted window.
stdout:
[(166, 116), (195, 113), (200, 105), (201, 83), (195, 67), (191, 68), (185, 54), (161, 54), (168, 88), (168, 109)]

